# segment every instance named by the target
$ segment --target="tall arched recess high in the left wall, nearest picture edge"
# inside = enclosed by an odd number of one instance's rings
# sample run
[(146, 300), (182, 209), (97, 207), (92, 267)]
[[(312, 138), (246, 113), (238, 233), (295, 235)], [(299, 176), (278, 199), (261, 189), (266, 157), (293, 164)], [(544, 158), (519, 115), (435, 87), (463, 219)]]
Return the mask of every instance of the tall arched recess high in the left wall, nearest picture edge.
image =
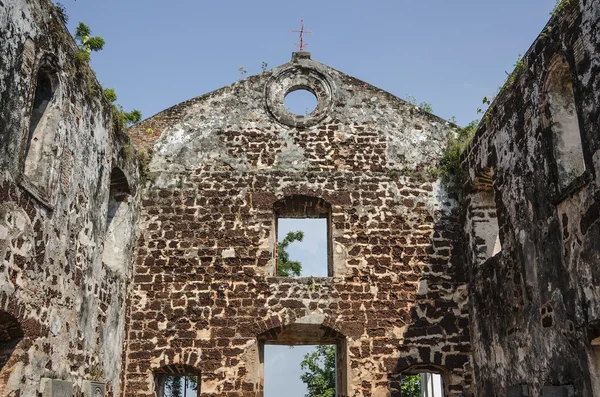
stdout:
[(60, 109), (55, 105), (58, 89), (57, 62), (52, 56), (44, 56), (35, 77), (21, 172), (46, 199), (52, 196), (54, 181), (58, 176), (56, 133)]

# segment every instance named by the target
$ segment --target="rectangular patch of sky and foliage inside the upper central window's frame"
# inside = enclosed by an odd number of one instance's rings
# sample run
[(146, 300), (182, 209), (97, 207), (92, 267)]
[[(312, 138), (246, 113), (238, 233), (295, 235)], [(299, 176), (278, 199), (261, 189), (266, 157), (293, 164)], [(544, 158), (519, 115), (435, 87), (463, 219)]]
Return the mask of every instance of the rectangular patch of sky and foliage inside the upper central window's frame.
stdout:
[(329, 217), (277, 217), (276, 220), (277, 275), (332, 277)]

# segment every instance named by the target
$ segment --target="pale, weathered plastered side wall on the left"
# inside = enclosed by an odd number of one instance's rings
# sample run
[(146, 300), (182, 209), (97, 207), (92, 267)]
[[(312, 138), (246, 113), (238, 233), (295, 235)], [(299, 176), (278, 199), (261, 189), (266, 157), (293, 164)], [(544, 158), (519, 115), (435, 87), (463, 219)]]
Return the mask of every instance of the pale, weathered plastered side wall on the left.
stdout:
[(37, 396), (44, 377), (114, 395), (131, 255), (109, 268), (103, 242), (116, 188), (136, 211), (137, 168), (49, 1), (0, 2), (0, 37), (0, 395)]

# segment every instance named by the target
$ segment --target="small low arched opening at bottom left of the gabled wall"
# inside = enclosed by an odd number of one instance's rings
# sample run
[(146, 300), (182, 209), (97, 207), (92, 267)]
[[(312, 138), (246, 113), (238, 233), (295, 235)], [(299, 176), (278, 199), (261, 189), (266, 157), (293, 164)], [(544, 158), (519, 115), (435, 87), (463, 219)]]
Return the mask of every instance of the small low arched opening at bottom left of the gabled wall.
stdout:
[(200, 396), (200, 371), (189, 365), (172, 365), (154, 372), (157, 397)]

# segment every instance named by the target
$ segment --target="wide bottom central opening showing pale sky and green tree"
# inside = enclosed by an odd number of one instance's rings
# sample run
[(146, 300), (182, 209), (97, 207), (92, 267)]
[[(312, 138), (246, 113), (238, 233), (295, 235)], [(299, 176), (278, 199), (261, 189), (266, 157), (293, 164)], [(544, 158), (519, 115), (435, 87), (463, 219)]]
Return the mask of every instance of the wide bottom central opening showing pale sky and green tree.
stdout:
[(263, 354), (265, 397), (339, 395), (336, 345), (266, 344)]

